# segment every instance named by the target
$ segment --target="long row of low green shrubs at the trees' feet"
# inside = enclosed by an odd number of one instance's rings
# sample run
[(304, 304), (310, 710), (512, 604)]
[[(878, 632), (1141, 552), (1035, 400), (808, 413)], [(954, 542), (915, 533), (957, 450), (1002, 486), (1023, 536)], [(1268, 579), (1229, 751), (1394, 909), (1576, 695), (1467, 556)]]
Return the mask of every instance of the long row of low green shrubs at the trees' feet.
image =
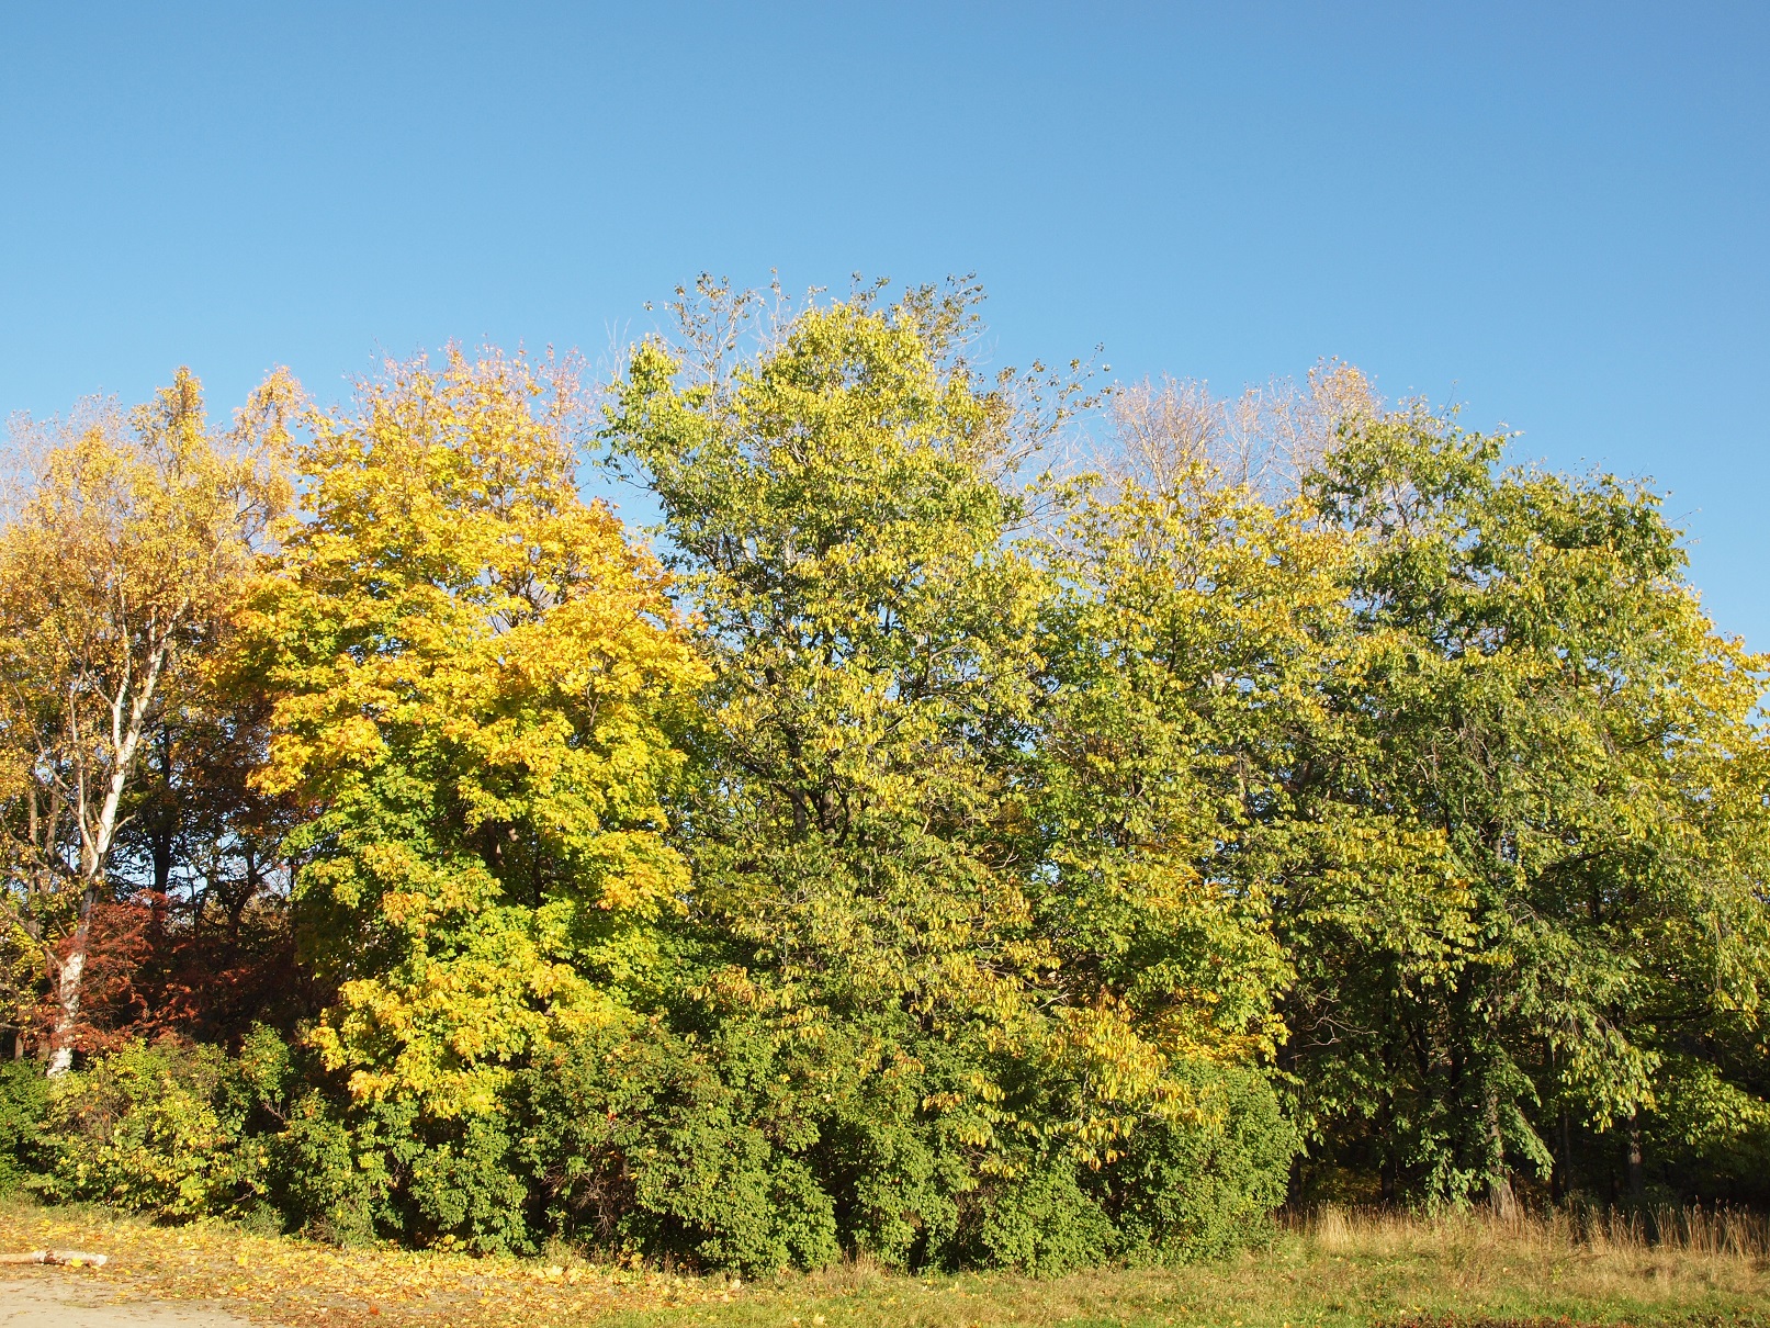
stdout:
[(977, 1183), (963, 1146), (915, 1114), (775, 1128), (770, 1066), (743, 1059), (657, 1025), (584, 1039), (513, 1077), (501, 1116), (442, 1123), (303, 1089), (299, 1054), (264, 1029), (237, 1055), (135, 1041), (55, 1084), (0, 1068), (0, 1183), (338, 1243), (535, 1252), (558, 1236), (747, 1271), (846, 1247), (1050, 1275), (1243, 1245), (1296, 1153), (1258, 1073), (1200, 1064), (1188, 1119), (1150, 1123), (1112, 1163), (1028, 1146)]

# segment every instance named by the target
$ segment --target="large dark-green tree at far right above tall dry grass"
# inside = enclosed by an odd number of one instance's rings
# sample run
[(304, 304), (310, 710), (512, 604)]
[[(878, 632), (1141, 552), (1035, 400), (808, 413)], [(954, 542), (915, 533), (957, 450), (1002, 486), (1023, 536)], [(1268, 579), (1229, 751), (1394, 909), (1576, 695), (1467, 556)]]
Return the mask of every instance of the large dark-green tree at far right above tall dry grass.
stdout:
[(1356, 547), (1363, 653), (1328, 696), (1361, 745), (1299, 754), (1441, 841), (1450, 963), (1296, 889), (1280, 924), (1312, 1119), (1345, 1144), (1365, 1117), (1391, 1179), (1506, 1209), (1559, 1112), (1639, 1128), (1696, 1027), (1754, 1023), (1766, 951), (1761, 660), (1713, 634), (1651, 490), (1501, 469), (1501, 443), (1409, 407), (1310, 482)]

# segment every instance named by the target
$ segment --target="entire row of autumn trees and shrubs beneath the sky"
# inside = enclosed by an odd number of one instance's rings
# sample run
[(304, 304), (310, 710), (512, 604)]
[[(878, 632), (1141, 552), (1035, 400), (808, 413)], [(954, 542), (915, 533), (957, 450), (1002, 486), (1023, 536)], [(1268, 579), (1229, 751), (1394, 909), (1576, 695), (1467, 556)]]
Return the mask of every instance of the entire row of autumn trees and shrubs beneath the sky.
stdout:
[(1770, 1199), (1765, 660), (1660, 496), (977, 301), (19, 427), (0, 1185), (749, 1270)]

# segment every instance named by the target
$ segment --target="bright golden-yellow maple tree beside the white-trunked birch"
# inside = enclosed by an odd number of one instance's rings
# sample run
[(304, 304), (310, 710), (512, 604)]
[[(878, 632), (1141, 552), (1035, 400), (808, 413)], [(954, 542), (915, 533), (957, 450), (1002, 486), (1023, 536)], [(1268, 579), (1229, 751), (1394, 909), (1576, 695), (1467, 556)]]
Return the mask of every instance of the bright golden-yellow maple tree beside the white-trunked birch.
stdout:
[(648, 552), (579, 496), (570, 365), (451, 349), (313, 413), (301, 515), (244, 622), (276, 696), (317, 1031), (359, 1101), (496, 1108), (618, 1018), (687, 871), (671, 740), (701, 680)]

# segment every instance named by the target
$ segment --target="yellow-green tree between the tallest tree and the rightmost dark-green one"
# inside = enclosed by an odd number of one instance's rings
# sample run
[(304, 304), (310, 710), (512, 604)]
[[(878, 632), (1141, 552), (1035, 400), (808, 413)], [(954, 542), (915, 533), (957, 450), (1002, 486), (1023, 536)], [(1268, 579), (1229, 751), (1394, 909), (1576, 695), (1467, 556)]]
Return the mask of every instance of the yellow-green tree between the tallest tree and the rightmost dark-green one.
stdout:
[[(1237, 1116), (1260, 1119), (1260, 1093), (1271, 1110), (1266, 1078), (1223, 1066), (1269, 1064), (1317, 1032), (1290, 1022), (1317, 940), (1381, 940), (1434, 974), (1462, 931), (1443, 836), (1331, 777), (1375, 754), (1335, 699), (1366, 668), (1354, 540), (1274, 508), (1207, 452), (1161, 443), (1145, 429), (1136, 471), (1089, 485), (1051, 545), (1066, 593), (1039, 742), (1041, 935), (1064, 984), (1119, 1011), (1177, 1077), (1165, 1110), (1133, 1103), (1099, 1123), (1096, 1160), (1127, 1234), (1186, 1202), (1186, 1179), (1150, 1170), (1150, 1140), (1230, 1110), (1228, 1084), (1243, 1085)], [(1220, 1190), (1207, 1208), (1274, 1202), (1260, 1186), (1289, 1169), (1289, 1130), (1269, 1131), (1237, 1199)]]

